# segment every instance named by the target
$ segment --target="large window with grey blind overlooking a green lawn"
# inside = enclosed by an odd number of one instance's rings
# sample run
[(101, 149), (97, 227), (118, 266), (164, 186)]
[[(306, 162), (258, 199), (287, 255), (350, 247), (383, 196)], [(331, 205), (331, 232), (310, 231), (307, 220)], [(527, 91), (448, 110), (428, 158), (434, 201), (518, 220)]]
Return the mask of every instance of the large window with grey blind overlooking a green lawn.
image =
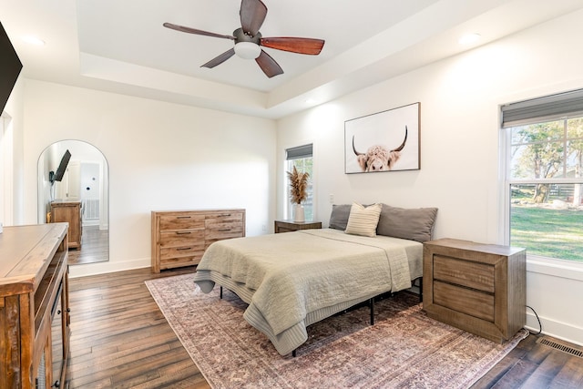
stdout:
[(583, 263), (583, 90), (502, 107), (507, 238)]

